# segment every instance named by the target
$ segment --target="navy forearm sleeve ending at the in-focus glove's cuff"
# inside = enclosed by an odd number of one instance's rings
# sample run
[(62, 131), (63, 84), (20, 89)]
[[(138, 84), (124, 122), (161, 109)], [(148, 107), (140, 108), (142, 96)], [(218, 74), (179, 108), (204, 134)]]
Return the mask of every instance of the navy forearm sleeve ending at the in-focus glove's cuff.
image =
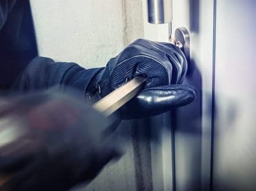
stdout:
[(51, 87), (85, 96), (90, 82), (103, 68), (84, 69), (76, 63), (54, 62), (51, 58), (36, 57), (14, 82), (17, 92), (31, 92)]

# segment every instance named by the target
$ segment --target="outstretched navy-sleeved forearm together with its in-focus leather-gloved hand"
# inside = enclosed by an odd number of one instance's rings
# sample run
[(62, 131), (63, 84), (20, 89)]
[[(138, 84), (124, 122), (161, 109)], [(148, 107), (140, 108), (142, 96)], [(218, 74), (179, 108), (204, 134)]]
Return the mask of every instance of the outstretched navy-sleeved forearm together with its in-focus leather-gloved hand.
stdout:
[(15, 88), (34, 91), (58, 85), (81, 98), (89, 95), (95, 102), (127, 80), (145, 76), (145, 89), (119, 109), (121, 118), (141, 118), (190, 104), (196, 91), (194, 87), (181, 85), (186, 73), (187, 61), (180, 49), (169, 43), (138, 39), (111, 58), (104, 68), (84, 69), (76, 63), (35, 58), (17, 80)]

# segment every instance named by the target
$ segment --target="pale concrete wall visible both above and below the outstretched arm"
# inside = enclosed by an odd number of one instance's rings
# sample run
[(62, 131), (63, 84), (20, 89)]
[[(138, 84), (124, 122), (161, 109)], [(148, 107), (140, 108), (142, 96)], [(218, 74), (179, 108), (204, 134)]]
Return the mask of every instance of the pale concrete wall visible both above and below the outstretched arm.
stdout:
[[(142, 1), (30, 0), (41, 56), (84, 67), (100, 67), (137, 38), (143, 38)], [(117, 129), (126, 135), (126, 154), (106, 166), (78, 190), (137, 190), (135, 140), (129, 122)], [(137, 144), (136, 144), (137, 145)]]

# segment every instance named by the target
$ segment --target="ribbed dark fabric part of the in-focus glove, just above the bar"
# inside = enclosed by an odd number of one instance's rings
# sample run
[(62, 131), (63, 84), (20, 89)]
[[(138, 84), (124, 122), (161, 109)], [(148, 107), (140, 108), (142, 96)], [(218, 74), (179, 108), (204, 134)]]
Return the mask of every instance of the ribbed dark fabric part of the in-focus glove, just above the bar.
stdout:
[(172, 65), (168, 59), (156, 60), (150, 56), (134, 56), (119, 63), (110, 78), (102, 80), (101, 96), (106, 96), (135, 76), (146, 76), (146, 87), (167, 85), (170, 84), (171, 74)]

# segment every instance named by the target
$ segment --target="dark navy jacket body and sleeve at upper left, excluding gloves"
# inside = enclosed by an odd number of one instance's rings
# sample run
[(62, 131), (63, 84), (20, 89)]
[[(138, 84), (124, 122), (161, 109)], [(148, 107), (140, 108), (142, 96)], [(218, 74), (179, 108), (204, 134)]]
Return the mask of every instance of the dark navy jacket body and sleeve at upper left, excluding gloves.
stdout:
[(59, 86), (84, 95), (100, 70), (38, 57), (29, 0), (0, 0), (0, 91)]

